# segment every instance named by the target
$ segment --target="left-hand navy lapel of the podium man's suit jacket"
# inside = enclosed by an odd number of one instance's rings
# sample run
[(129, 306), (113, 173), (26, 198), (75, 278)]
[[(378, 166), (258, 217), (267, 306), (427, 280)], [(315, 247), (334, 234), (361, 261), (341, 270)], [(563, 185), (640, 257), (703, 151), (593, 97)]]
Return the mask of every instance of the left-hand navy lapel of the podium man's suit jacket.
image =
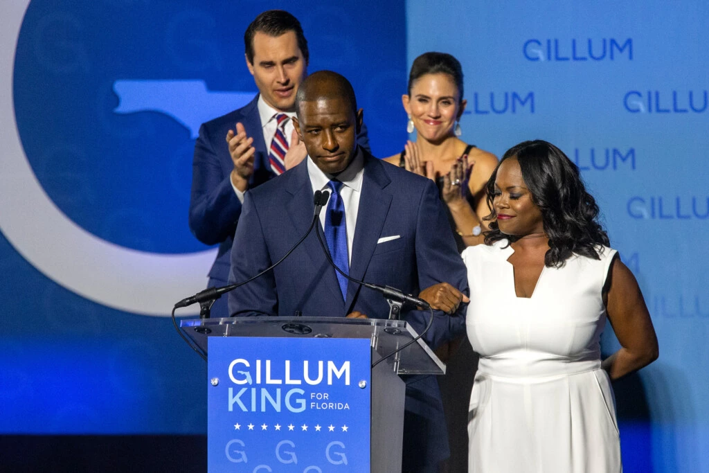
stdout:
[[(289, 179), (286, 181), (286, 192), (291, 196), (291, 199), (285, 204), (286, 211), (296, 228), (298, 238), (308, 230), (308, 226), (310, 226), (311, 221), (313, 221), (313, 212), (315, 211), (315, 204), (313, 204), (313, 186), (308, 176), (308, 159), (310, 158), (306, 157), (303, 162), (294, 167), (291, 171), (291, 175), (288, 176)], [(325, 211), (324, 208), (323, 211)], [(320, 229), (320, 235), (323, 235), (323, 228), (320, 226), (319, 221), (316, 223), (316, 226)], [(345, 301), (342, 300), (342, 292), (340, 292), (340, 286), (337, 283), (335, 269), (325, 258), (323, 248), (320, 247), (315, 232), (316, 228), (313, 228), (311, 234), (308, 235), (308, 238), (306, 238), (301, 245), (305, 247), (311, 265), (316, 269), (323, 269), (323, 272), (320, 274), (320, 282), (324, 286), (322, 290), (325, 292), (325, 297), (332, 299), (334, 301), (333, 304), (340, 308), (340, 313), (344, 313)]]

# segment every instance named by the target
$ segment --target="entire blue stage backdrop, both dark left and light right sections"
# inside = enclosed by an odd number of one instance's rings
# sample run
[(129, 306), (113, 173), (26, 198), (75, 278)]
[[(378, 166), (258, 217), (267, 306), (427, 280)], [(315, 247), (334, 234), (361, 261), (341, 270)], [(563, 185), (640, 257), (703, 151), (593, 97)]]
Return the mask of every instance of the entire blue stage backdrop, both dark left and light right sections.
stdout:
[(196, 127), (255, 91), (242, 33), (281, 7), (309, 69), (351, 79), (375, 155), (401, 150), (408, 66), (440, 50), (466, 75), (465, 140), (576, 160), (660, 343), (615, 386), (625, 469), (709, 472), (705, 2), (7, 3), (0, 433), (206, 432), (206, 367), (161, 316), (213, 260), (186, 222)]

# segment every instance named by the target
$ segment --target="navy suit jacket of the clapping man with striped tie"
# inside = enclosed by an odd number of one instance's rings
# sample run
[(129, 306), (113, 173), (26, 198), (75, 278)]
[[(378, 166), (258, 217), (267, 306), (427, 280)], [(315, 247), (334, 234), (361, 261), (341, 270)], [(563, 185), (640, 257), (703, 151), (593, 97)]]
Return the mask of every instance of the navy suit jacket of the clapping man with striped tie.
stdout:
[[(276, 177), (268, 160), (261, 118), (257, 107), (259, 96), (246, 106), (212, 121), (199, 128), (199, 138), (194, 146), (192, 163), (192, 194), (189, 204), (189, 228), (196, 238), (206, 245), (219, 244), (216, 260), (209, 272), (209, 286), (226, 284), (229, 275), (231, 247), (242, 204), (231, 187), (230, 173), (234, 164), (225, 141), (228, 130), (235, 130), (237, 122), (242, 123), (246, 134), (254, 138), (256, 148), (254, 174), (249, 179), (249, 187), (258, 187)], [(357, 136), (357, 142), (369, 150), (367, 129)], [(222, 299), (212, 308), (212, 317), (226, 317), (226, 304)]]

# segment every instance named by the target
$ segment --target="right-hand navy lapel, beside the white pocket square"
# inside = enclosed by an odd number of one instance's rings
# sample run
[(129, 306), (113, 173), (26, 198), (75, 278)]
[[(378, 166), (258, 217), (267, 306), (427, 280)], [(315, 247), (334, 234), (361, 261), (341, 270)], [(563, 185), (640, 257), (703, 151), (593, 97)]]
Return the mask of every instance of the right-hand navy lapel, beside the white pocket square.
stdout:
[[(391, 194), (384, 191), (391, 179), (386, 175), (384, 167), (376, 157), (364, 153), (364, 176), (362, 178), (362, 194), (359, 196), (359, 211), (357, 211), (357, 227), (354, 229), (352, 257), (350, 258), (350, 277), (364, 279), (369, 261), (376, 248), (376, 242), (381, 235), (386, 214), (391, 205)], [(347, 286), (347, 313), (352, 311), (355, 296), (361, 289), (359, 284), (350, 281)]]

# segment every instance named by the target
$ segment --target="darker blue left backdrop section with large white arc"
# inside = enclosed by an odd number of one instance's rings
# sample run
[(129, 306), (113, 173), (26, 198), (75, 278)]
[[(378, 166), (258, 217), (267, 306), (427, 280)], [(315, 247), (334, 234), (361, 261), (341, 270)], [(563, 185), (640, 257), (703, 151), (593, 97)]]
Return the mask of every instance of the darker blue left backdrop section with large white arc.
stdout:
[(372, 148), (403, 143), (403, 1), (3, 6), (0, 433), (206, 433), (206, 366), (164, 316), (214, 259), (187, 226), (196, 129), (252, 99), (243, 32), (277, 7)]

